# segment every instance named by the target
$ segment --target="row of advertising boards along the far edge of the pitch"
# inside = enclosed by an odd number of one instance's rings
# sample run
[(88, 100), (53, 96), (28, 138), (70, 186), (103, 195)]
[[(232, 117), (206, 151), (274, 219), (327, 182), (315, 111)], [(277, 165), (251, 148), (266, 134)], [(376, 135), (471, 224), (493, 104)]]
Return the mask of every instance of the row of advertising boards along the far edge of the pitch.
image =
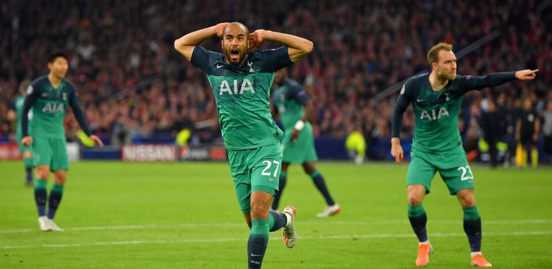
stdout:
[[(379, 138), (367, 148), (367, 156), (376, 160), (393, 160), (391, 156), (391, 139)], [(539, 161), (549, 163), (549, 157), (544, 151), (543, 139), (539, 140)], [(108, 140), (109, 141), (109, 140)], [(133, 140), (135, 144), (124, 145), (114, 149), (109, 145), (104, 147), (84, 147), (76, 142), (67, 143), (68, 156), (71, 161), (76, 160), (122, 160), (129, 162), (174, 162), (174, 161), (226, 161), (226, 149), (223, 145), (190, 145), (178, 147), (169, 143), (167, 137), (160, 139), (140, 138)], [(316, 138), (315, 148), (320, 160), (347, 160), (349, 156), (345, 149), (344, 138)], [(402, 149), (406, 160), (410, 159), (412, 139), (401, 139)], [(485, 152), (479, 153), (485, 160)], [(19, 149), (15, 143), (0, 143), (0, 160), (21, 159)]]

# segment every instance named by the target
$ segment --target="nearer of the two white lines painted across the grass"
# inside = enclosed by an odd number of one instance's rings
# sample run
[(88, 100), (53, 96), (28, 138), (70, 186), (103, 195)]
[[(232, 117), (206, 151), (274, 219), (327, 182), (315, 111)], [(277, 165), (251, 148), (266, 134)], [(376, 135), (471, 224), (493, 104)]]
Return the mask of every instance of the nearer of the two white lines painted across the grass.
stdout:
[[(485, 236), (519, 236), (519, 235), (552, 235), (552, 231), (514, 231), (509, 233), (484, 233)], [(300, 240), (331, 240), (331, 239), (374, 239), (374, 238), (410, 238), (414, 234), (359, 234), (359, 235), (322, 235), (299, 236)], [(431, 237), (466, 236), (464, 233), (430, 233)], [(87, 242), (75, 244), (43, 244), (43, 245), (6, 245), (2, 249), (28, 249), (31, 247), (79, 247), (79, 246), (110, 246), (110, 245), (138, 245), (138, 244), (182, 244), (204, 242), (246, 241), (247, 238), (219, 238), (219, 239), (182, 239), (182, 240), (132, 240)], [(282, 240), (279, 236), (272, 236), (270, 240)]]

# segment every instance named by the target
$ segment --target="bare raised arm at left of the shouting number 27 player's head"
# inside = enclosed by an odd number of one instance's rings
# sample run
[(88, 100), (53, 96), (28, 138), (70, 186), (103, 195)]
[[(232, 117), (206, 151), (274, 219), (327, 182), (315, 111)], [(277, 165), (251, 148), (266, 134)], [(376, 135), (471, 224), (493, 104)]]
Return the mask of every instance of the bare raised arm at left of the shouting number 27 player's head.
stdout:
[(187, 35), (182, 36), (177, 40), (174, 40), (174, 49), (180, 52), (189, 61), (192, 59), (192, 53), (195, 46), (199, 46), (203, 41), (211, 38), (212, 36), (222, 35), (222, 30), (230, 23), (219, 23), (208, 28), (193, 31)]

